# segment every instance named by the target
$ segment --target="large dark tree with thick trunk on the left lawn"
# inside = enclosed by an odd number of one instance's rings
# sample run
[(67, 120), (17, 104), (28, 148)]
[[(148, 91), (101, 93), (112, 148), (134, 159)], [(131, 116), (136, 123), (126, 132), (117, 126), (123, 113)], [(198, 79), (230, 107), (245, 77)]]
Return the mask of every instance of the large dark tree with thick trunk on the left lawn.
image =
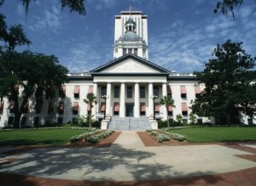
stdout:
[[(0, 39), (4, 45), (0, 50), (0, 96), (8, 96), (14, 103), (13, 127), (19, 128), (22, 113), (28, 110), (29, 97), (35, 94), (36, 104), (42, 105), (44, 99), (54, 97), (54, 87), (60, 87), (67, 82), (67, 68), (58, 64), (54, 55), (33, 53), (29, 50), (16, 52), (15, 47), (28, 45), (22, 26), (8, 27), (4, 16), (0, 15), (1, 34)], [(22, 87), (22, 94), (19, 94)]]

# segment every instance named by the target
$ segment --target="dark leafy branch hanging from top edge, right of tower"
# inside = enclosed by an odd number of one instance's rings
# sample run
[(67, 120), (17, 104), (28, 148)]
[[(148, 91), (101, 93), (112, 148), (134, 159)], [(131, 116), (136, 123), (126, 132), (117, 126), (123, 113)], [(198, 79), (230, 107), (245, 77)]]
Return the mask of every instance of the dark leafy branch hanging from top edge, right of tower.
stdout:
[(234, 14), (234, 6), (242, 5), (244, 0), (222, 0), (218, 1), (216, 4), (216, 8), (213, 10), (214, 13), (218, 13), (218, 10), (221, 10), (221, 13), (225, 16), (228, 15), (228, 9), (231, 11), (233, 18)]

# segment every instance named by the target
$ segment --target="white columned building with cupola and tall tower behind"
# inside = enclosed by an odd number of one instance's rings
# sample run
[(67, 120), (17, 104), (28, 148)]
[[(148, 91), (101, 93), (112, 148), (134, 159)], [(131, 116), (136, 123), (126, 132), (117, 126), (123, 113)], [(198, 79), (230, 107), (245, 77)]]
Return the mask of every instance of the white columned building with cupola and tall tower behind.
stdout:
[[(83, 101), (88, 93), (97, 97), (97, 104), (92, 108), (93, 118), (97, 120), (102, 120), (104, 114), (149, 118), (156, 113), (156, 119), (166, 120), (168, 115), (175, 118), (180, 114), (183, 122), (189, 122), (191, 101), (204, 85), (198, 85), (193, 74), (173, 73), (148, 61), (147, 15), (141, 11), (121, 11), (116, 15), (113, 58), (90, 72), (68, 74), (69, 82), (57, 91), (58, 96), (51, 101), (45, 99), (39, 108), (33, 97), (29, 99), (20, 125), (74, 122), (90, 110)], [(22, 87), (19, 91), (22, 92)], [(167, 95), (175, 101), (175, 108), (170, 107), (168, 111), (159, 104)], [(13, 124), (12, 108), (12, 101), (4, 98), (0, 105), (0, 127)], [(196, 120), (198, 123), (215, 122), (214, 118), (205, 117)], [(253, 122), (247, 117), (244, 121), (246, 124)]]

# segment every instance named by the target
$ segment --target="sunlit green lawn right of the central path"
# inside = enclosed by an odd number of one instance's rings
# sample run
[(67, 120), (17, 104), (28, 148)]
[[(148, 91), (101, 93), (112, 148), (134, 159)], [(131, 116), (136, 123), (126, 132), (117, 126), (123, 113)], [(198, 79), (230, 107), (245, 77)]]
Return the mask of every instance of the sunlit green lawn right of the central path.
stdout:
[(185, 135), (193, 143), (256, 141), (256, 127), (195, 127), (170, 131)]

